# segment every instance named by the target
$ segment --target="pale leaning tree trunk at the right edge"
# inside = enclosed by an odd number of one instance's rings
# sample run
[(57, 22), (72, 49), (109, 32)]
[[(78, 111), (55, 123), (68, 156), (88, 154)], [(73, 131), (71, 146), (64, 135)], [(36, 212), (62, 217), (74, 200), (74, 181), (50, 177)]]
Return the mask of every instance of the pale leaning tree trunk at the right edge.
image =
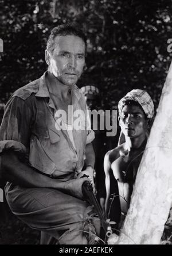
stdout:
[(159, 244), (172, 201), (172, 63), (118, 244)]

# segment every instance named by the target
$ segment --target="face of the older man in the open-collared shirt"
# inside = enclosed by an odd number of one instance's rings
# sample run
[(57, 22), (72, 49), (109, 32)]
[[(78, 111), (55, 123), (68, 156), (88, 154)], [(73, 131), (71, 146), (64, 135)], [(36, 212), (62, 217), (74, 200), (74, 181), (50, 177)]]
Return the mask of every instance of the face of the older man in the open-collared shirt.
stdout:
[(64, 85), (75, 85), (85, 64), (85, 43), (77, 36), (56, 36), (54, 51), (45, 51), (46, 63), (53, 75)]

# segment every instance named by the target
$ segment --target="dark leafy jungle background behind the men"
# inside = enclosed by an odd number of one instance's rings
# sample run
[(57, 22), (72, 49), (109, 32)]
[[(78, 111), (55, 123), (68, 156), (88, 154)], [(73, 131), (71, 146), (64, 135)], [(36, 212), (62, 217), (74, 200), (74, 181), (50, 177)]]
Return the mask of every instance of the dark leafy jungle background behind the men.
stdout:
[[(50, 29), (67, 22), (88, 37), (79, 87), (97, 86), (103, 109), (116, 109), (131, 89), (146, 89), (157, 108), (172, 56), (171, 17), (171, 0), (0, 0), (0, 123), (10, 94), (46, 70)], [(5, 202), (0, 211), (0, 244), (39, 243), (40, 233), (11, 215)], [(163, 240), (170, 243), (170, 228)]]

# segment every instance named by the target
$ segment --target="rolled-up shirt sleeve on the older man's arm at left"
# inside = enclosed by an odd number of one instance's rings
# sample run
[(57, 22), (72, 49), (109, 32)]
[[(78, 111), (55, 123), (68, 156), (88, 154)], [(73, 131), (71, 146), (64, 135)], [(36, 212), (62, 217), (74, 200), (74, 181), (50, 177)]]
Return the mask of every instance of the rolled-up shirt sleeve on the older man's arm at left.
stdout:
[(31, 111), (22, 98), (11, 97), (5, 106), (0, 127), (0, 153), (14, 150), (24, 153), (29, 146)]

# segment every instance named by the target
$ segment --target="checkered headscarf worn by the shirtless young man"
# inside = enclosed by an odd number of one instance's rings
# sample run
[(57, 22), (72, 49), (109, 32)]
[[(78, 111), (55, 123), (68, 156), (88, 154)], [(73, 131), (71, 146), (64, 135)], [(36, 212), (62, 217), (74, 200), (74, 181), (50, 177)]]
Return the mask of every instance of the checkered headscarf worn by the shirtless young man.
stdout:
[(125, 102), (131, 100), (136, 101), (142, 107), (144, 113), (148, 119), (152, 119), (154, 116), (154, 103), (150, 95), (145, 90), (135, 89), (130, 91), (124, 96), (118, 104), (119, 113), (122, 112), (122, 109), (125, 105)]

